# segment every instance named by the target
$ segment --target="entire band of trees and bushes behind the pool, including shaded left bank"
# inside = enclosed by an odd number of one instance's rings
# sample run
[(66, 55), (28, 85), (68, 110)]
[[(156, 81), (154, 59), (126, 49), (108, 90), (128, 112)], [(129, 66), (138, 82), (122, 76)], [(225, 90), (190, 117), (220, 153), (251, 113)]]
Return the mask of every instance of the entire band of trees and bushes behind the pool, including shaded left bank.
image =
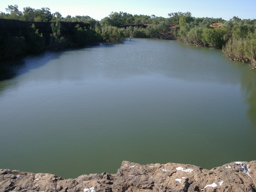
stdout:
[(190, 12), (169, 13), (169, 18), (111, 12), (98, 21), (89, 16), (64, 18), (49, 8), (24, 7), (21, 12), (17, 5), (8, 5), (6, 12), (0, 12), (0, 60), (125, 38), (158, 38), (222, 49), (231, 60), (256, 68), (256, 19), (195, 18)]

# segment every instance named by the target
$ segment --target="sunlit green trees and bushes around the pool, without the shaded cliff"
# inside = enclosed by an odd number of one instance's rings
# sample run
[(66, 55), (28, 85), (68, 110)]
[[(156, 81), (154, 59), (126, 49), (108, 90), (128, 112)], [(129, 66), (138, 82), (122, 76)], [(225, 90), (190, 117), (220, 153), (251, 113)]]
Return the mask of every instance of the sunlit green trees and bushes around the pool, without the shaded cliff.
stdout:
[[(60, 12), (51, 13), (47, 7), (41, 9), (24, 7), (21, 12), (17, 5), (8, 5), (6, 12), (0, 12), (0, 18), (90, 24), (90, 28), (79, 26), (74, 28), (76, 45), (92, 42), (121, 42), (127, 37), (178, 39), (186, 44), (222, 49), (230, 59), (250, 62), (254, 68), (256, 67), (255, 19), (241, 20), (233, 17), (226, 21), (222, 18), (195, 18), (190, 12), (172, 12), (168, 14), (168, 18), (111, 12), (108, 17), (98, 21), (89, 16), (62, 17)], [(58, 24), (56, 25), (58, 27)], [(57, 36), (58, 33), (52, 31), (52, 44), (48, 48), (58, 49), (68, 45), (68, 41), (61, 37), (61, 34)], [(37, 34), (36, 38), (43, 39), (43, 35)]]

